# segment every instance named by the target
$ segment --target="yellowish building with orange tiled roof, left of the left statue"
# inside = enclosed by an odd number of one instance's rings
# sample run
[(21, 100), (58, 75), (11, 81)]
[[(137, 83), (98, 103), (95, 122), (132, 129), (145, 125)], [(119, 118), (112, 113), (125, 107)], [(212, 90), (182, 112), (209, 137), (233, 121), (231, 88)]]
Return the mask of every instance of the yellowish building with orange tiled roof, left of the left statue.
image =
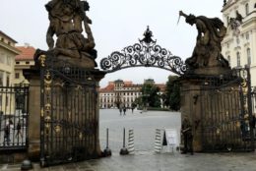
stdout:
[(14, 85), (29, 85), (29, 81), (23, 76), (23, 70), (30, 69), (34, 65), (33, 55), (35, 49), (26, 43), (24, 46), (16, 46), (21, 51), (15, 57)]

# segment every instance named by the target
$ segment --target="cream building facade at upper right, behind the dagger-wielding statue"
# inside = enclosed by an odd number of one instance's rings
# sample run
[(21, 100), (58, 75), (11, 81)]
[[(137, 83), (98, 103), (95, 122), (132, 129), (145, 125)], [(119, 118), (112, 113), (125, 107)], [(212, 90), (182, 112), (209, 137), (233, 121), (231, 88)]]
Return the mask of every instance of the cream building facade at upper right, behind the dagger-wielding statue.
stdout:
[(231, 68), (250, 66), (251, 84), (256, 85), (256, 1), (224, 1), (223, 21), (227, 28), (222, 53)]

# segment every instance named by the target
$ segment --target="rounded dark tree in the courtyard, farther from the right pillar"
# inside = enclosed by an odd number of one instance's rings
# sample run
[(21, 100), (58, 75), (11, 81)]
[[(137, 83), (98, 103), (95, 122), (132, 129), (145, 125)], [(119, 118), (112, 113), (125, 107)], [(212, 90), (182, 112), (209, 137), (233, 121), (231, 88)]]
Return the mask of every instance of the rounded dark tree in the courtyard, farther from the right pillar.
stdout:
[(141, 92), (144, 106), (160, 107), (160, 87), (153, 84), (144, 84)]

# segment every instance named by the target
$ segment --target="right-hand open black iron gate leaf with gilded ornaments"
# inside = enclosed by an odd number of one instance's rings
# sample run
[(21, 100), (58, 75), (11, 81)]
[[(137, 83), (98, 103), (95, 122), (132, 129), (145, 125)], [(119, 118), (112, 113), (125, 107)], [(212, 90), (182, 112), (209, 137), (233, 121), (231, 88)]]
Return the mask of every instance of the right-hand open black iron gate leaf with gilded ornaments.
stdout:
[(254, 150), (248, 68), (207, 78), (200, 99), (203, 151)]

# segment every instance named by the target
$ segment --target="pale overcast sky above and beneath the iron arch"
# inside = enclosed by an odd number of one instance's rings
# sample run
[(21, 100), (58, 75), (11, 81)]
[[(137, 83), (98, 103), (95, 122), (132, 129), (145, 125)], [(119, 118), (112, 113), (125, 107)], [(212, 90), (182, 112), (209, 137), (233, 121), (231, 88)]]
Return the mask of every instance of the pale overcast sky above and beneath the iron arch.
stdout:
[[(35, 48), (47, 50), (45, 34), (48, 14), (44, 5), (48, 0), (1, 0), (0, 30), (18, 41)], [(157, 43), (183, 60), (191, 56), (195, 46), (197, 29), (181, 18), (177, 25), (178, 12), (196, 16), (222, 19), (222, 0), (89, 0), (92, 30), (96, 40), (96, 62), (113, 51), (120, 51), (143, 37), (147, 26), (153, 31)], [(222, 19), (223, 20), (223, 19)], [(156, 68), (131, 68), (108, 74), (101, 86), (122, 79), (142, 84), (145, 79), (154, 79), (164, 84), (173, 75)]]

